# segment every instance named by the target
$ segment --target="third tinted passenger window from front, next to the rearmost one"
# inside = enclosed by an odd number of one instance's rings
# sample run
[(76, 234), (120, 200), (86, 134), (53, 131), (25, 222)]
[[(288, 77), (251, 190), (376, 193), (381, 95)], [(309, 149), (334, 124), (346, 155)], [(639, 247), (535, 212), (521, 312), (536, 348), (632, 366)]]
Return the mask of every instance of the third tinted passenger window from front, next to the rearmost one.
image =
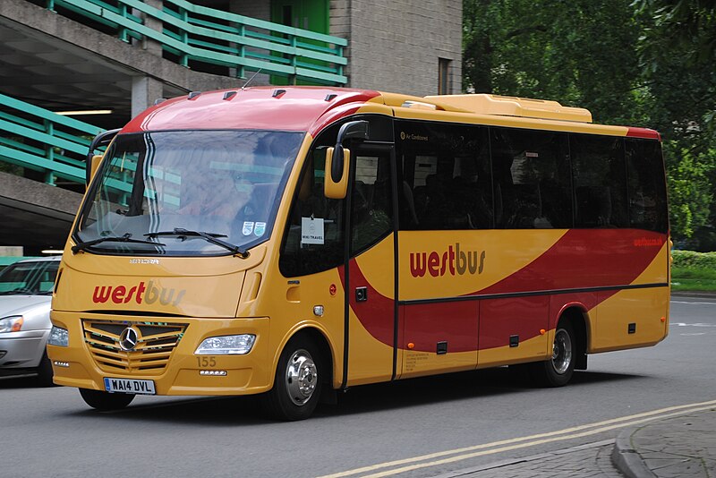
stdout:
[(569, 139), (575, 184), (575, 227), (626, 227), (624, 140), (573, 134)]

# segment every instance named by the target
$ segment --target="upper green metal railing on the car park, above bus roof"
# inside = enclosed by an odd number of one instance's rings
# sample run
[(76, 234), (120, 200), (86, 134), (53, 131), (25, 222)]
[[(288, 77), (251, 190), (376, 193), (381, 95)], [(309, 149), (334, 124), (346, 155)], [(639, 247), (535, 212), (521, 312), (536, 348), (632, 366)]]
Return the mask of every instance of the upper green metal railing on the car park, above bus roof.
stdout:
[[(286, 76), (293, 82), (345, 84), (347, 60), (344, 38), (286, 27), (192, 4), (186, 0), (163, 0), (161, 10), (142, 0), (47, 0), (47, 8), (62, 7), (115, 30), (118, 38), (157, 41), (179, 64), (235, 68), (236, 76), (247, 71)], [(150, 28), (142, 17), (161, 22)]]

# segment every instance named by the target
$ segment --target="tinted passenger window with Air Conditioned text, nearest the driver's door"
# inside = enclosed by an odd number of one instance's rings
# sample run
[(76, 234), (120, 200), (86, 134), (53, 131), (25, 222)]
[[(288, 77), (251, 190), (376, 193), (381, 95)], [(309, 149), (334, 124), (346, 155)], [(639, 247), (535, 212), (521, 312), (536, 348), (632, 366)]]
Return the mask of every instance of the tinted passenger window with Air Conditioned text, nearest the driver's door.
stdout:
[(396, 123), (401, 229), (492, 226), (487, 128)]

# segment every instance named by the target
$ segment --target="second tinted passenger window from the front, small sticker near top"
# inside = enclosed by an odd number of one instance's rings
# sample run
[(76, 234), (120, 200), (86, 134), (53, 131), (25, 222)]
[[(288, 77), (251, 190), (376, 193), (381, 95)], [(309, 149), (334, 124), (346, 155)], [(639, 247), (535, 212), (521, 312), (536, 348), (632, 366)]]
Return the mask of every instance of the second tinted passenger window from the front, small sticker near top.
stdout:
[(496, 226), (572, 226), (567, 135), (490, 128)]

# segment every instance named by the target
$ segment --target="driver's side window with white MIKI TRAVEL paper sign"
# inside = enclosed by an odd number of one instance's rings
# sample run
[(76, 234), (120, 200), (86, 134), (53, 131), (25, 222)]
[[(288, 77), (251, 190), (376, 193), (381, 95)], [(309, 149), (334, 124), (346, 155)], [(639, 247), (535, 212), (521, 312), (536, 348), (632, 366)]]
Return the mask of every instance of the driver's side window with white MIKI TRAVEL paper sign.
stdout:
[(313, 149), (303, 167), (278, 260), (285, 277), (315, 274), (343, 263), (345, 200), (323, 195), (325, 155), (325, 149)]

